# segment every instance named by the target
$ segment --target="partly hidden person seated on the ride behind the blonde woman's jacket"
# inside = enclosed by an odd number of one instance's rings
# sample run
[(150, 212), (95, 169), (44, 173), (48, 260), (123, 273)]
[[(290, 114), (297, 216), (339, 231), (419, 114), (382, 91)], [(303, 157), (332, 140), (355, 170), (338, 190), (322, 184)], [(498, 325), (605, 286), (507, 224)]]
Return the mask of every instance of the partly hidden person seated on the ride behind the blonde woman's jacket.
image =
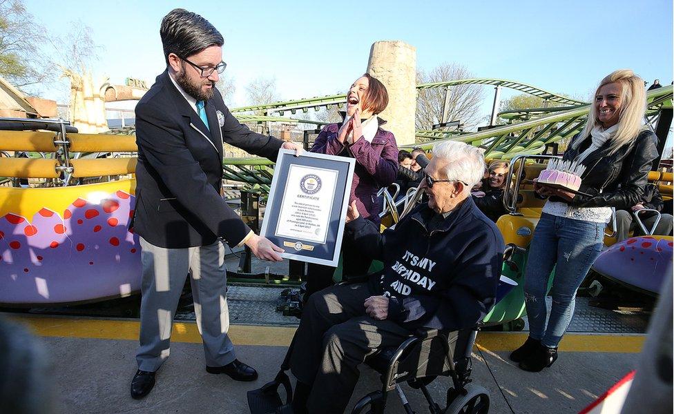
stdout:
[[(650, 183), (646, 184), (644, 195), (642, 195), (641, 200), (639, 200), (637, 204), (632, 206), (629, 210), (617, 210), (615, 212), (615, 221), (617, 224), (615, 230), (618, 242), (622, 242), (624, 239), (628, 238), (631, 230), (634, 230), (635, 236), (644, 235), (644, 231), (637, 225), (637, 220), (634, 218), (637, 211), (644, 210), (645, 208), (662, 211), (662, 206), (664, 206), (664, 202), (662, 201), (660, 192), (657, 190), (657, 186)], [(646, 211), (639, 214), (639, 219), (641, 219), (646, 230), (651, 230), (653, 224), (655, 224), (655, 219), (657, 219), (657, 214), (652, 211)], [(660, 215), (660, 221), (655, 227), (653, 235), (672, 235), (673, 219), (674, 217), (668, 214)]]

